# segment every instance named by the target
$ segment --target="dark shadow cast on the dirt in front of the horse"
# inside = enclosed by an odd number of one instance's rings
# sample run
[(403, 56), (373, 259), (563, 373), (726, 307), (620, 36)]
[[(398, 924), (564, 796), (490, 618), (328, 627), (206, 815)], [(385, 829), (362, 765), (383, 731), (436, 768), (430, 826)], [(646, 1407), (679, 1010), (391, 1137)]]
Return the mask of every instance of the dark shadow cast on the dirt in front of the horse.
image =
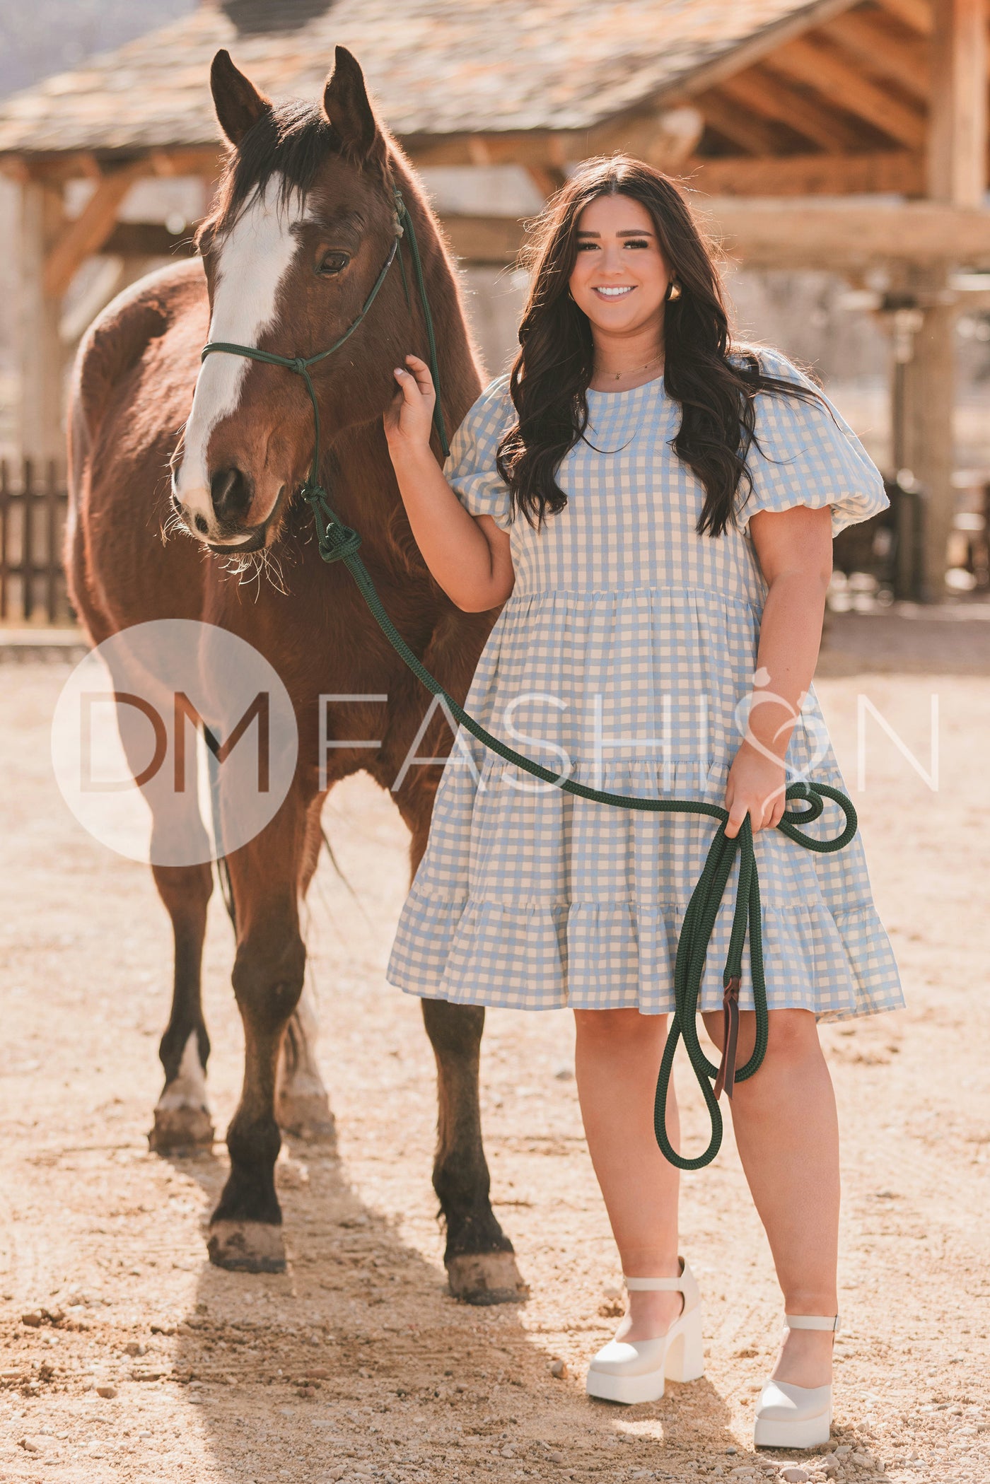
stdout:
[[(218, 1198), (220, 1149), (177, 1165)], [(203, 1252), (175, 1342), (220, 1478), (567, 1478), (592, 1465), (687, 1478), (699, 1454), (736, 1453), (708, 1380), (668, 1385), (656, 1404), (594, 1402), (583, 1376), (552, 1374), (524, 1304), (451, 1298), (439, 1264), (362, 1204), (332, 1146), (292, 1141), (279, 1196), (288, 1270), (230, 1273)]]

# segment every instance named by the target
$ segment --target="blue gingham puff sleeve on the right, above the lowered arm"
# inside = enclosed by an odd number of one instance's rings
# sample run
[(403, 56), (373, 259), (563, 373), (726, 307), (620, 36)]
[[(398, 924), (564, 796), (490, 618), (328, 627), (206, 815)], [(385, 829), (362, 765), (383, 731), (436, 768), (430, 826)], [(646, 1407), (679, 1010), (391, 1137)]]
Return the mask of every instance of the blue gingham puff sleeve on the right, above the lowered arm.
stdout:
[[(769, 375), (813, 387), (813, 381), (776, 350), (760, 350), (760, 364)], [(846, 525), (867, 521), (891, 505), (880, 470), (828, 398), (801, 402), (760, 392), (755, 436), (758, 447), (754, 444), (747, 459), (753, 490), (748, 491), (742, 481), (736, 496), (736, 521), (747, 534), (754, 510), (830, 505), (834, 537)]]

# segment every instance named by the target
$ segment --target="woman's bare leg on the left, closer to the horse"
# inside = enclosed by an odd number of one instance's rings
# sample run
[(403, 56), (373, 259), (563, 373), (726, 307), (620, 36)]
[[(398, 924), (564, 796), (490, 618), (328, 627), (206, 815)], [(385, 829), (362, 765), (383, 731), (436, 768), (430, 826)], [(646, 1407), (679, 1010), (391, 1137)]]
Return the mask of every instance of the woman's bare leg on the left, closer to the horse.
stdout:
[[(628, 1278), (674, 1278), (678, 1172), (653, 1137), (653, 1098), (666, 1015), (574, 1011), (574, 1073), (591, 1162)], [(672, 1091), (666, 1126), (677, 1147)], [(628, 1340), (665, 1334), (683, 1307), (674, 1293), (629, 1294)]]

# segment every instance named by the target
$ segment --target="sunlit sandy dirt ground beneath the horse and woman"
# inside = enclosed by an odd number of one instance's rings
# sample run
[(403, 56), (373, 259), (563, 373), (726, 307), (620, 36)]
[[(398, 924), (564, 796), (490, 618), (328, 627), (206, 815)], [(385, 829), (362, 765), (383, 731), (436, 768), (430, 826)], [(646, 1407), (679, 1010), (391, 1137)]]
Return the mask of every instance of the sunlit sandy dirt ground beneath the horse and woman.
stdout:
[[(445, 1293), (429, 1184), (433, 1068), (419, 1003), (384, 982), (405, 833), (365, 778), (327, 828), (312, 984), (335, 1146), (291, 1143), (289, 1269), (212, 1269), (203, 1229), (226, 1150), (148, 1153), (171, 941), (150, 873), (76, 825), (49, 766), (65, 657), (0, 665), (0, 1480), (324, 1481), (778, 1477), (754, 1398), (781, 1304), (732, 1137), (684, 1180), (707, 1374), (655, 1405), (591, 1402), (619, 1264), (585, 1150), (566, 1012), (488, 1015), (494, 1201), (531, 1285), (472, 1309)], [(845, 1333), (834, 1453), (810, 1478), (990, 1478), (990, 622), (834, 616), (822, 699), (859, 810), (908, 1008), (822, 1028), (845, 1140)], [(858, 778), (858, 696), (867, 708)], [(938, 782), (932, 769), (938, 697)], [(864, 787), (865, 785), (865, 787)], [(237, 1092), (230, 932), (206, 950), (217, 1128)], [(701, 1104), (680, 1079), (687, 1137)], [(554, 1374), (563, 1361), (566, 1373)], [(560, 1365), (557, 1367), (560, 1370)], [(831, 1471), (831, 1472), (827, 1472)], [(787, 1477), (784, 1474), (784, 1477)], [(800, 1477), (800, 1475), (799, 1475)]]

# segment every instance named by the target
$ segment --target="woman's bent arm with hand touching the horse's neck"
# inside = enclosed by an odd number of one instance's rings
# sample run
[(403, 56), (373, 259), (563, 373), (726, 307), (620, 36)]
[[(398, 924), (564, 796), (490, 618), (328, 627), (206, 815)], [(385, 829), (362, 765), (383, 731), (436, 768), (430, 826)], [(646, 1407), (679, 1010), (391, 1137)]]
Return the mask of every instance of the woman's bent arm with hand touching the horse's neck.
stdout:
[(407, 356), (384, 414), (392, 466), (416, 545), (451, 603), (465, 613), (496, 608), (512, 592), (511, 542), (490, 515), (471, 515), (444, 479), (429, 445), (436, 393), (429, 367)]

